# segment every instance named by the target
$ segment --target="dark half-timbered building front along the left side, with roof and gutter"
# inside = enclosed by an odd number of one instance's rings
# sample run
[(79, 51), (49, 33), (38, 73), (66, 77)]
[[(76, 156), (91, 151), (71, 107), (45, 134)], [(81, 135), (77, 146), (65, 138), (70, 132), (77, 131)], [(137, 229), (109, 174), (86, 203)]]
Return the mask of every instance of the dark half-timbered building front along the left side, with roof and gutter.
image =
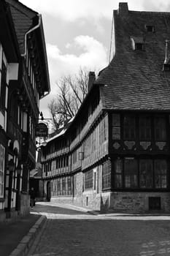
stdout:
[(49, 93), (50, 82), (41, 15), (20, 1), (1, 2), (6, 10), (1, 14), (0, 51), (1, 134), (6, 138), (0, 149), (1, 201), (6, 217), (13, 217), (29, 212), (39, 99)]

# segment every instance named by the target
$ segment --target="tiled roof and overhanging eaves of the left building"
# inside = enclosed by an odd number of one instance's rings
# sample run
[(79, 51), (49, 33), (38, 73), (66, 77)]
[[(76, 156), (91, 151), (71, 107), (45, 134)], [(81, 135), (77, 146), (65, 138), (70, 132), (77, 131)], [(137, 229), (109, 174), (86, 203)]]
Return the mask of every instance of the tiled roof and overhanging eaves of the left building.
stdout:
[[(20, 54), (26, 53), (25, 49), (25, 34), (30, 29), (38, 25), (39, 18), (38, 12), (31, 10), (18, 0), (5, 0), (9, 4), (9, 8), (12, 14), (12, 20), (15, 26), (15, 31), (18, 37), (18, 44), (20, 48)], [(39, 15), (41, 16), (41, 15)], [(42, 65), (42, 89), (43, 91), (50, 92), (50, 78), (47, 64), (47, 52), (45, 46), (45, 34), (41, 22), (36, 30), (36, 39), (39, 48), (39, 62)], [(43, 95), (44, 96), (44, 95)]]

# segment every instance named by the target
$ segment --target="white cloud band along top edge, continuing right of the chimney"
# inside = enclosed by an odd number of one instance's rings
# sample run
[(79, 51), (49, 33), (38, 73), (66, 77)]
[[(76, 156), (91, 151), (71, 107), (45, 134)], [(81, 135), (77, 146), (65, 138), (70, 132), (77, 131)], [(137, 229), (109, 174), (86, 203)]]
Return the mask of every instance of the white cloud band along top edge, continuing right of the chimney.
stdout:
[[(20, 0), (23, 4), (37, 12), (58, 16), (63, 20), (75, 21), (80, 18), (112, 19), (112, 10), (117, 10), (119, 0)], [(127, 1), (127, 0), (123, 0)], [(169, 0), (128, 0), (129, 10), (161, 10), (167, 11)]]

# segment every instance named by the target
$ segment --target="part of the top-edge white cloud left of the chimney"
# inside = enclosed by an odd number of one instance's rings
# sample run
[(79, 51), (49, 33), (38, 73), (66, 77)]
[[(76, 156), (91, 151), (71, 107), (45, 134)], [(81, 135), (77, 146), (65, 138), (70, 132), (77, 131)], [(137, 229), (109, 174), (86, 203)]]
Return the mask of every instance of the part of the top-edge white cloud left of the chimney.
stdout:
[(112, 6), (112, 0), (21, 0), (28, 7), (45, 12), (50, 15), (57, 15), (64, 20), (74, 21), (79, 18), (102, 16), (112, 18), (112, 10), (108, 6)]

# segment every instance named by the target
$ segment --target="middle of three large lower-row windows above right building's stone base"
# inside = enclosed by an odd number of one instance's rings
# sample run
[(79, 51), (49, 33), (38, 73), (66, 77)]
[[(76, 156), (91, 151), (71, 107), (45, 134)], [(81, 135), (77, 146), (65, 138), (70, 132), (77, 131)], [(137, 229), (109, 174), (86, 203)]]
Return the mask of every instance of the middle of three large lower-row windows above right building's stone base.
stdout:
[(152, 188), (152, 160), (141, 159), (139, 161), (140, 187)]

